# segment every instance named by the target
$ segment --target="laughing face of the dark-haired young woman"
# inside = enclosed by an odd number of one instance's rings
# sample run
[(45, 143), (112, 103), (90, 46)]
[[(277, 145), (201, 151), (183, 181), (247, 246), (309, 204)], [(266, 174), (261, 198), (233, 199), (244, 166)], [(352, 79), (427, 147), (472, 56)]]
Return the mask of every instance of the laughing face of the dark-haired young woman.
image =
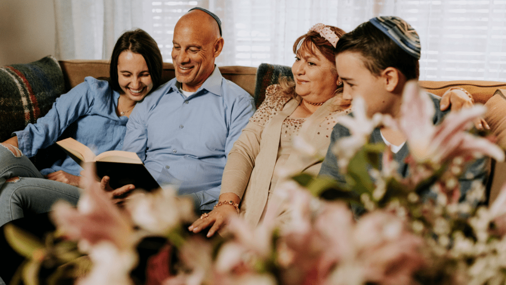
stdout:
[(140, 101), (153, 88), (148, 65), (144, 57), (129, 50), (118, 57), (118, 83), (126, 97)]

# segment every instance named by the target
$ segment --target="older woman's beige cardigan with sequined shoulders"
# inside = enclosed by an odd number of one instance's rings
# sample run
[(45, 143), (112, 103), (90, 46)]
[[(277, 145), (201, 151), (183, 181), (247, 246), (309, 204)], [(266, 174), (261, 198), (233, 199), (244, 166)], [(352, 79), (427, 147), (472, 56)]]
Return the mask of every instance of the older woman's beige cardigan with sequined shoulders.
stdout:
[[(267, 204), (283, 121), (297, 109), (302, 100), (301, 97), (294, 99), (283, 97), (275, 85), (269, 86), (266, 93), (265, 101), (251, 117), (230, 151), (220, 193), (232, 192), (241, 198), (240, 216), (252, 226), (258, 225)], [(348, 113), (341, 110), (330, 111), (333, 101), (327, 100), (301, 127), (305, 131), (306, 140), (322, 154), (327, 152), (336, 118)], [(282, 110), (279, 110), (281, 106)], [(265, 120), (266, 116), (268, 118), (265, 124), (258, 122), (259, 119)], [(303, 161), (298, 159), (297, 155), (291, 154), (285, 165), (289, 165), (290, 169), (297, 172), (318, 174), (320, 159)], [(273, 189), (281, 182), (278, 180)], [(275, 196), (272, 195), (270, 199), (276, 199)]]

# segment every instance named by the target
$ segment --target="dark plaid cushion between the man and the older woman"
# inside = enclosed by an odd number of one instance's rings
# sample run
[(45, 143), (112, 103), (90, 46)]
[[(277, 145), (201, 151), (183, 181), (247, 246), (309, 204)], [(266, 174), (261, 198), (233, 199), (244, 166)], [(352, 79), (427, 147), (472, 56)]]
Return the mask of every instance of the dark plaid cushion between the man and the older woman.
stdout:
[(255, 104), (257, 108), (265, 99), (265, 90), (269, 85), (277, 84), (280, 77), (293, 79), (291, 67), (286, 65), (262, 63), (257, 69), (257, 85), (255, 86)]

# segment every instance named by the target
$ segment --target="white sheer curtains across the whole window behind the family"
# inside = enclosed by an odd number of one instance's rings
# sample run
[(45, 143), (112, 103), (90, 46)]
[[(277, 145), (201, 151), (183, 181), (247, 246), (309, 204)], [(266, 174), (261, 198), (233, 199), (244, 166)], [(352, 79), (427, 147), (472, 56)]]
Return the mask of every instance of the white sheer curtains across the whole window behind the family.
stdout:
[(215, 12), (218, 65), (291, 65), (293, 42), (315, 23), (350, 31), (396, 15), (420, 35), (421, 80), (506, 81), (506, 1), (498, 0), (54, 0), (59, 58), (108, 59), (123, 30), (141, 27), (172, 62), (174, 25), (190, 8)]

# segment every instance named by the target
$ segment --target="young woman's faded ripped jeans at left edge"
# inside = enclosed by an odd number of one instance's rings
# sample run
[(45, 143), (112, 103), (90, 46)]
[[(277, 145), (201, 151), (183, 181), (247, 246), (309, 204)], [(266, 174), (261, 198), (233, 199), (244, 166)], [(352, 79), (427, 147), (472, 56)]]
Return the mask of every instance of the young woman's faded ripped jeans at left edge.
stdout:
[(58, 200), (76, 205), (79, 195), (75, 186), (45, 179), (19, 150), (13, 153), (0, 145), (0, 226), (48, 212)]

